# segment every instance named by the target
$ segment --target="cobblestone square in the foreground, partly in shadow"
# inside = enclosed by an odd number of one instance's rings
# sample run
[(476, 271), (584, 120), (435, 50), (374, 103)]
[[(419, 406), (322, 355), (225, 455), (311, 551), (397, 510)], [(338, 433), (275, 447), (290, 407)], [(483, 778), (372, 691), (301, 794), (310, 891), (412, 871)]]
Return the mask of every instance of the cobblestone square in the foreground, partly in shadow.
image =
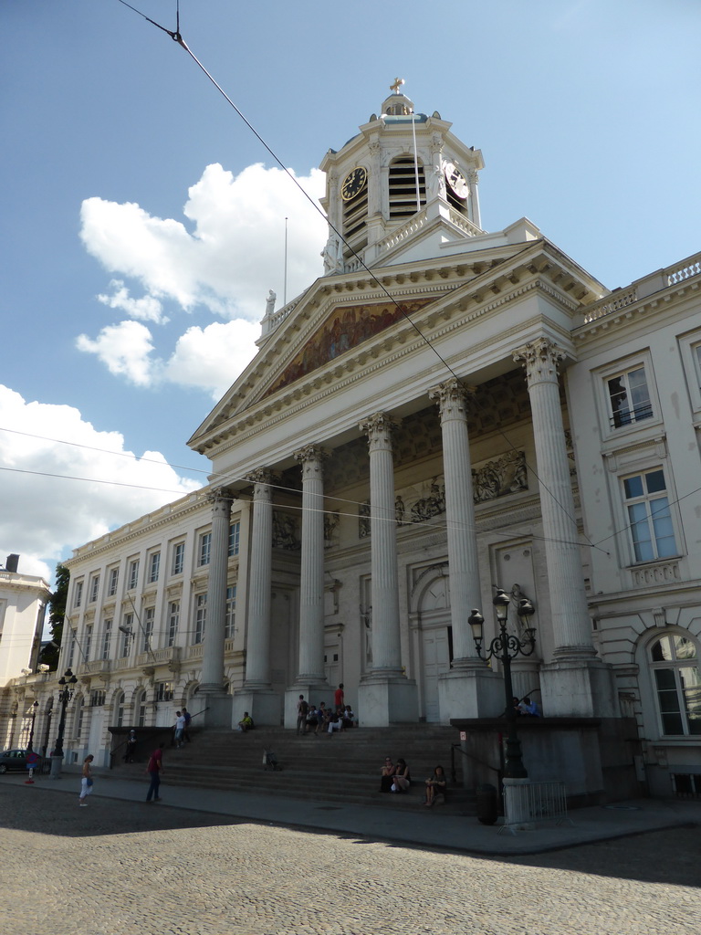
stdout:
[(697, 827), (489, 859), (6, 784), (0, 827), (2, 935), (701, 930)]

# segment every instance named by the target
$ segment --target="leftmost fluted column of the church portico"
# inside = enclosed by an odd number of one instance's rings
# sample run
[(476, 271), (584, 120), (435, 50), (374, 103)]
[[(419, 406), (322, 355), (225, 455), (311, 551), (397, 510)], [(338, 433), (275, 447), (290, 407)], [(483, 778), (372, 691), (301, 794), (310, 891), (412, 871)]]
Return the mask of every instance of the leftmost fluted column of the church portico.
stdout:
[(212, 541), (207, 585), (207, 627), (202, 655), (201, 692), (221, 692), (224, 682), (224, 630), (226, 626), (226, 577), (229, 565), (229, 525), (232, 496), (215, 490), (212, 505)]

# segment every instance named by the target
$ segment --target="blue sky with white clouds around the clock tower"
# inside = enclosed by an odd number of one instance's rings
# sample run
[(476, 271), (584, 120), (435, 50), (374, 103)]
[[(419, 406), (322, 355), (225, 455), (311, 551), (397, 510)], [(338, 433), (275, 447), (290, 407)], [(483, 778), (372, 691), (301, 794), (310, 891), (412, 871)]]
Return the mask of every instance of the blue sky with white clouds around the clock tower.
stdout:
[[(176, 0), (131, 6), (175, 30)], [(486, 230), (528, 217), (610, 289), (701, 250), (697, 0), (180, 0), (245, 121), (144, 16), (0, 0), (0, 565), (51, 580), (207, 482), (186, 442), (268, 291), (322, 275), (279, 164), (316, 201), (395, 77), (482, 151)]]

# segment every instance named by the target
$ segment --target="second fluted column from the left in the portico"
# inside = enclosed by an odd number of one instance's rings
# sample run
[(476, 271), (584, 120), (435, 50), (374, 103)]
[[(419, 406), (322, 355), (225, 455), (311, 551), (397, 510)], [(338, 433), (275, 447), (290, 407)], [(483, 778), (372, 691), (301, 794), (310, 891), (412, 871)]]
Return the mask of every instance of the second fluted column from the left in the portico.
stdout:
[(273, 475), (271, 471), (260, 468), (249, 475), (249, 480), (254, 483), (254, 488), (245, 686), (268, 688), (273, 568)]

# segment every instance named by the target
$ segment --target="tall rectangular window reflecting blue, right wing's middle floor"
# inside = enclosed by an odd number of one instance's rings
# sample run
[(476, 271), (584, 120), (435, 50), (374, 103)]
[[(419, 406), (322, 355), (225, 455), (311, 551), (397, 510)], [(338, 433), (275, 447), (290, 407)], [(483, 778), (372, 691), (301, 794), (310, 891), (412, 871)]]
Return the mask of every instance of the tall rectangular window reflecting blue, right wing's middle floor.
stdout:
[(623, 481), (633, 551), (637, 562), (677, 554), (672, 515), (662, 469), (635, 474)]

